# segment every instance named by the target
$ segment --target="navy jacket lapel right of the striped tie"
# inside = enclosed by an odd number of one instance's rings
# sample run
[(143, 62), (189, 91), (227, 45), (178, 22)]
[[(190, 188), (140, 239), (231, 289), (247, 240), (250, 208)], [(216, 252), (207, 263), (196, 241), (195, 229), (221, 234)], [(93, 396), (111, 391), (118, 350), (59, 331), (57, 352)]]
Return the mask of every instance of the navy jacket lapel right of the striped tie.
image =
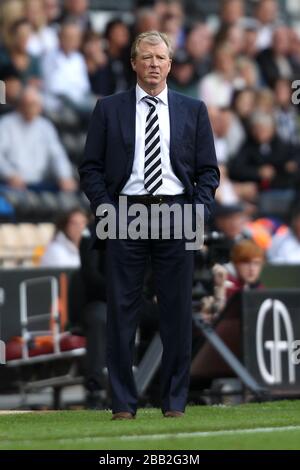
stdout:
[(186, 122), (187, 109), (180, 95), (172, 90), (168, 91), (170, 115), (170, 160), (176, 165), (176, 155), (180, 154), (183, 131)]

